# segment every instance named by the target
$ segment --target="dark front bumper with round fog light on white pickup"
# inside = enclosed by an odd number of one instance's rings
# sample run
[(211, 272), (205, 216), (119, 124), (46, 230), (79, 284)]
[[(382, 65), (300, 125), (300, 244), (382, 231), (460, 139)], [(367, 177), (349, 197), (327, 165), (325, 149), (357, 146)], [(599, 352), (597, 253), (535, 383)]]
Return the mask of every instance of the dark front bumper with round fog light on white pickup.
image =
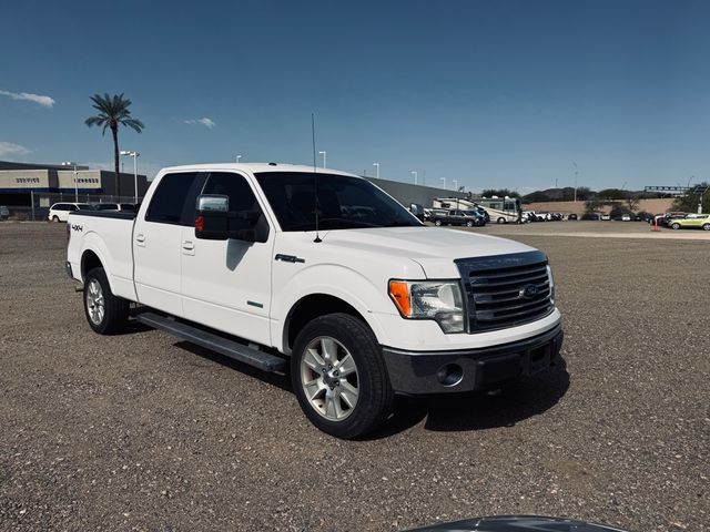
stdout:
[(562, 327), (500, 346), (456, 351), (407, 351), (383, 348), (394, 391), (433, 395), (494, 388), (535, 375), (560, 361)]

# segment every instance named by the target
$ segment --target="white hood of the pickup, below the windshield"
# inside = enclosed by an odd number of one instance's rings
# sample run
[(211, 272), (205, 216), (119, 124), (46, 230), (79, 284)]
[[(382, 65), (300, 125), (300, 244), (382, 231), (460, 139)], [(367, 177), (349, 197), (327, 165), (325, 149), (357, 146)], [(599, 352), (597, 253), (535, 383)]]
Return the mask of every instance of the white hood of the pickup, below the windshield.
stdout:
[(323, 243), (359, 250), (363, 255), (389, 255), (418, 263), (428, 278), (456, 278), (457, 258), (508, 255), (534, 248), (519, 242), (440, 227), (377, 227), (322, 233)]

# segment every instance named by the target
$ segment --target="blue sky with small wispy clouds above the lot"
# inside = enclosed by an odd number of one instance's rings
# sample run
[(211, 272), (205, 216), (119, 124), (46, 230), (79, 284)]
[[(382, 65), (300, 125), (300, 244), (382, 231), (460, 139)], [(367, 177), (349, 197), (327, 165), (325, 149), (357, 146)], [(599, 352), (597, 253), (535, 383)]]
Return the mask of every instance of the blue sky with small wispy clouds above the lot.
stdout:
[(328, 166), (396, 181), (709, 175), (710, 2), (26, 0), (2, 20), (2, 160), (111, 165), (83, 120), (91, 94), (123, 92), (146, 129), (121, 147), (149, 175), (312, 162), (311, 112)]

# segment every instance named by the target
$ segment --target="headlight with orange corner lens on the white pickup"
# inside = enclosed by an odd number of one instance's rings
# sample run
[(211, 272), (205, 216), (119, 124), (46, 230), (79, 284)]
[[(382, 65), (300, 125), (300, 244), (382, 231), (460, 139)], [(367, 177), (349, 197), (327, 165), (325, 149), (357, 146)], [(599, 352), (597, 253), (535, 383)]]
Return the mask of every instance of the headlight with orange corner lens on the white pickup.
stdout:
[(458, 280), (390, 280), (389, 296), (405, 318), (434, 319), (444, 332), (464, 332)]

